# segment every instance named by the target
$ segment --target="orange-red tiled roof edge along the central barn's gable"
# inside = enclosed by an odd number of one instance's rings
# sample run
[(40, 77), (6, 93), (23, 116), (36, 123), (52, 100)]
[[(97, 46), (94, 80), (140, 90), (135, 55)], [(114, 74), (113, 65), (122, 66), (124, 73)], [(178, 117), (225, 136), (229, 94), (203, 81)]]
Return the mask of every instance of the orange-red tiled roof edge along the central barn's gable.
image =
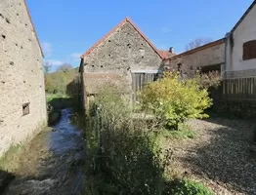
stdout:
[(118, 23), (114, 28), (112, 28), (107, 35), (105, 35), (102, 39), (100, 39), (96, 44), (94, 44), (89, 50), (87, 50), (80, 58), (83, 59), (87, 55), (89, 55), (95, 48), (97, 48), (99, 45), (101, 45), (103, 42), (107, 40), (107, 38), (115, 32), (119, 27), (124, 25), (126, 22), (129, 22), (138, 32), (139, 34), (149, 43), (149, 46), (154, 50), (154, 52), (162, 59), (161, 54), (159, 51), (153, 46), (153, 44), (149, 41), (149, 39), (145, 36), (145, 34), (139, 29), (139, 27), (129, 18), (125, 18), (120, 23)]

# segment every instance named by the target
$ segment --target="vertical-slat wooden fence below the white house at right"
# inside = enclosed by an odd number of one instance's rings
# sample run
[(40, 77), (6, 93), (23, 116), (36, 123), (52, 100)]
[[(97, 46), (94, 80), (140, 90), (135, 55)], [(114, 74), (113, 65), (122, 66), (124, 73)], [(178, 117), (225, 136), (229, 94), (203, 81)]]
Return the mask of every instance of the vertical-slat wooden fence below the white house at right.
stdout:
[(215, 100), (256, 100), (256, 77), (223, 80), (217, 90), (211, 91)]

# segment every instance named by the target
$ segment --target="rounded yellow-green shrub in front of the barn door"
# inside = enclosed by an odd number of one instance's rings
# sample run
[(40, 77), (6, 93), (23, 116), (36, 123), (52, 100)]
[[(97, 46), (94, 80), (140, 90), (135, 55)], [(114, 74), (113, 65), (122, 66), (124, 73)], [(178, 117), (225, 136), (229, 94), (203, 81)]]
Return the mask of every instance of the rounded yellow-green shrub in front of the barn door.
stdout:
[(211, 102), (207, 89), (201, 88), (196, 78), (180, 80), (172, 72), (149, 83), (140, 95), (143, 110), (154, 114), (159, 124), (175, 130), (187, 119), (207, 117), (203, 111)]

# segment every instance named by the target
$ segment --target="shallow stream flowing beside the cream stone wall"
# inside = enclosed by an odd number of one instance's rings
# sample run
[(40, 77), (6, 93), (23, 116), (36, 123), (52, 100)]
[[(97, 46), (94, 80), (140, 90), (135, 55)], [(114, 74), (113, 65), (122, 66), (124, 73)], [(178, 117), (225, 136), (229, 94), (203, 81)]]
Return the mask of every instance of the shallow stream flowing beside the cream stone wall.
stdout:
[(71, 109), (63, 109), (60, 121), (45, 128), (25, 145), (15, 179), (4, 195), (81, 194), (85, 140), (72, 125)]

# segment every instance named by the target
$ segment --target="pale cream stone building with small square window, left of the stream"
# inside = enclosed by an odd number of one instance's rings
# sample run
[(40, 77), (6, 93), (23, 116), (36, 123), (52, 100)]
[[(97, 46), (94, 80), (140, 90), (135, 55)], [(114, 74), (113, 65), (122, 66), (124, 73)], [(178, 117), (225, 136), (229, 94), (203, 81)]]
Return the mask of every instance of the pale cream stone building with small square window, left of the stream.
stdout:
[(24, 0), (0, 1), (0, 155), (47, 123), (43, 53)]

